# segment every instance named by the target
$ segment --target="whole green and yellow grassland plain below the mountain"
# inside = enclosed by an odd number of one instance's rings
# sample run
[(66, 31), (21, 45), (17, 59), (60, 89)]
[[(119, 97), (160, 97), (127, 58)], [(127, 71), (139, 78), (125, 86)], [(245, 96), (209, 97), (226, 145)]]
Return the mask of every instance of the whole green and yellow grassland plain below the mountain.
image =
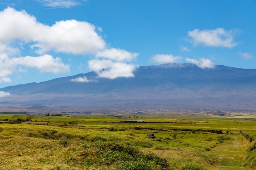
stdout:
[[(144, 123), (119, 123), (127, 120)], [(256, 144), (240, 134), (255, 137), (255, 122), (255, 115), (0, 114), (0, 169), (256, 168)]]

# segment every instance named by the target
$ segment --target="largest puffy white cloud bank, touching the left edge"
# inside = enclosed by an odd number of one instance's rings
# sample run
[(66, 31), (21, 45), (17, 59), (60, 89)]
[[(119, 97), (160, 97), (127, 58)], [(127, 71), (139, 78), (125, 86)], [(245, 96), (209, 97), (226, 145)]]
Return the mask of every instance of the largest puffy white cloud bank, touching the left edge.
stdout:
[[(0, 23), (0, 82), (11, 82), (10, 75), (29, 67), (40, 72), (68, 72), (69, 66), (59, 57), (45, 54), (50, 50), (87, 54), (105, 48), (105, 41), (96, 33), (94, 25), (87, 22), (67, 20), (49, 26), (25, 11), (8, 7), (0, 12)], [(21, 57), (23, 45), (31, 43), (30, 47), (41, 55)]]

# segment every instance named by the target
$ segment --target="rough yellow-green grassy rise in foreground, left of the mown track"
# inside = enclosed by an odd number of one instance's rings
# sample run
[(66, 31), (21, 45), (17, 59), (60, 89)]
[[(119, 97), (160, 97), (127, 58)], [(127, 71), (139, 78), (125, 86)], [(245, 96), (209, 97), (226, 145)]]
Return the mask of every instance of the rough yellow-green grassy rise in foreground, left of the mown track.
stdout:
[[(203, 148), (183, 149), (178, 139), (153, 141), (146, 138), (148, 131), (26, 124), (0, 127), (0, 169), (5, 170), (207, 169), (205, 165), (216, 164), (216, 158)], [(173, 147), (176, 143), (180, 148)]]

